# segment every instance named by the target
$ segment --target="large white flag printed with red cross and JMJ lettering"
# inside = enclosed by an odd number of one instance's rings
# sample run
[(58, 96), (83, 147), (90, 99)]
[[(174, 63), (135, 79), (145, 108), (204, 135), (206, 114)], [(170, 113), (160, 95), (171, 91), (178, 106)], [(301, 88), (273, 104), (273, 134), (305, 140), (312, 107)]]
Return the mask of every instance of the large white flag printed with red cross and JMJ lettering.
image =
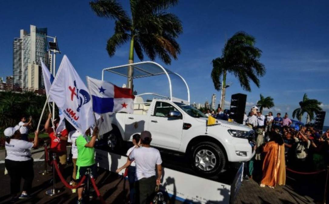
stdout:
[(63, 57), (49, 94), (62, 109), (66, 120), (80, 133), (85, 133), (94, 124), (88, 89), (66, 55)]

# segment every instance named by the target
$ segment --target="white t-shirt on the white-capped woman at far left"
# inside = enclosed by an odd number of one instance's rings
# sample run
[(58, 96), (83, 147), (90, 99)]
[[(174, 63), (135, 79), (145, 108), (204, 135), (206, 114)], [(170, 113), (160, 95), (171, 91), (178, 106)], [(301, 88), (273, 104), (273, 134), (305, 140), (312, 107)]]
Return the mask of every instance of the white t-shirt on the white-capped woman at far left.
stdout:
[(11, 139), (9, 144), (5, 143), (7, 156), (6, 159), (12, 161), (28, 161), (31, 159), (32, 142), (25, 140)]

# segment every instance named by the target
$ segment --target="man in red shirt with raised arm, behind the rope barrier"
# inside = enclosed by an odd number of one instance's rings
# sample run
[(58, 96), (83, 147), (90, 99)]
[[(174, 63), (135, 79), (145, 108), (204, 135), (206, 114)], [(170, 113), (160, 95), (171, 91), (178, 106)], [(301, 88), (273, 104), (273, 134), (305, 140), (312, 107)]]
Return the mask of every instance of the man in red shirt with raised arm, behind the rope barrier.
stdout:
[[(66, 144), (68, 138), (68, 132), (66, 129), (57, 133), (56, 129), (59, 125), (59, 119), (54, 120), (54, 128), (50, 126), (50, 120), (52, 114), (48, 114), (48, 119), (44, 125), (44, 129), (49, 134), (50, 137), (50, 157), (52, 153), (56, 153), (56, 160), (59, 162), (59, 169), (63, 173), (63, 167), (66, 165)], [(55, 129), (55, 133), (54, 133)], [(51, 158), (52, 159), (52, 158)]]

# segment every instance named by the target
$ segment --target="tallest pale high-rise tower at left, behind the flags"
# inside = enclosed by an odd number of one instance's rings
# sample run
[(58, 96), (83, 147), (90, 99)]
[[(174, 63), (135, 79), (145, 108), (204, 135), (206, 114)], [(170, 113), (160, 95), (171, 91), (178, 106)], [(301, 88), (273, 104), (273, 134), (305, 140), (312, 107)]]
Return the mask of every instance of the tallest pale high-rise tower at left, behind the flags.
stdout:
[(30, 25), (30, 33), (20, 30), (13, 41), (13, 85), (39, 90), (44, 87), (40, 58), (50, 67), (47, 28)]

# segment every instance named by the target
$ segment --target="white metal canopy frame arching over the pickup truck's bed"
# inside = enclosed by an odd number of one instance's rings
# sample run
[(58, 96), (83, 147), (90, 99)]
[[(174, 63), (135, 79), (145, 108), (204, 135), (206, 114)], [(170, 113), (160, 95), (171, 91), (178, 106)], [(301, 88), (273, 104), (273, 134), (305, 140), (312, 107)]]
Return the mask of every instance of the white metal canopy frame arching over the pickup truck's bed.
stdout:
[[(134, 68), (132, 77), (129, 77), (127, 75), (129, 66), (133, 66), (133, 68)], [(170, 70), (162, 67), (160, 64), (158, 64), (156, 62), (152, 62), (152, 61), (137, 62), (137, 63), (133, 63), (133, 64), (126, 64), (126, 65), (121, 65), (121, 66), (116, 66), (116, 67), (105, 68), (102, 70), (102, 80), (104, 80), (104, 71), (110, 71), (112, 73), (115, 73), (115, 74), (118, 74), (121, 76), (125, 76), (125, 77), (129, 77), (129, 78), (133, 78), (133, 79), (165, 74), (167, 76), (168, 82), (169, 82), (169, 93), (170, 93), (169, 99), (170, 99), (170, 101), (173, 101), (173, 99), (175, 99), (175, 97), (172, 96), (172, 86), (171, 86), (171, 79), (170, 79), (169, 74), (177, 75), (180, 79), (182, 79), (182, 81), (186, 85), (187, 95), (188, 95), (188, 104), (190, 105), (190, 89), (189, 89), (189, 86), (187, 85), (185, 79), (178, 73), (170, 71)], [(144, 95), (144, 94), (139, 94), (139, 95)], [(151, 94), (151, 93), (147, 93), (147, 94)], [(154, 94), (154, 95), (157, 95), (157, 94)]]

